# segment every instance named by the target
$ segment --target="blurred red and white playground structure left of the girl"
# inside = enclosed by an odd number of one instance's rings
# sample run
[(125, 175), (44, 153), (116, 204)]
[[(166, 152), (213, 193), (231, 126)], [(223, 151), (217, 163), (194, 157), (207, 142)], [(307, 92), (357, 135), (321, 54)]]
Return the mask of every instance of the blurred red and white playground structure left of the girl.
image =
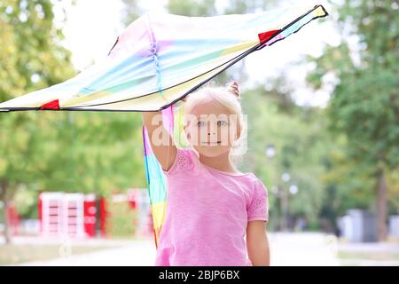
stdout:
[[(123, 197), (121, 199), (121, 197)], [(38, 215), (40, 233), (43, 236), (69, 236), (93, 238), (110, 234), (111, 212), (108, 202), (129, 202), (132, 210), (137, 210), (137, 218), (132, 219), (137, 227), (137, 235), (153, 233), (151, 207), (147, 192), (143, 189), (130, 189), (129, 192), (106, 197), (83, 193), (40, 193)]]

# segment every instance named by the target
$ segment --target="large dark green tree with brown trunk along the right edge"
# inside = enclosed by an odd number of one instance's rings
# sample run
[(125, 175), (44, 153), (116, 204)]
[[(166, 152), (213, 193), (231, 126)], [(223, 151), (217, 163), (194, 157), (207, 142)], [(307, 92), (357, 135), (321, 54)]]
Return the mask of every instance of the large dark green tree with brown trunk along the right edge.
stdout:
[[(380, 241), (387, 237), (387, 175), (399, 164), (397, 12), (397, 1), (345, 1), (338, 9), (344, 40), (309, 58), (317, 66), (308, 77), (316, 88), (327, 74), (337, 78), (329, 106), (332, 130), (346, 136), (348, 174), (363, 173), (351, 175), (353, 183), (359, 190), (375, 188)], [(357, 38), (355, 47), (345, 40), (349, 36)]]

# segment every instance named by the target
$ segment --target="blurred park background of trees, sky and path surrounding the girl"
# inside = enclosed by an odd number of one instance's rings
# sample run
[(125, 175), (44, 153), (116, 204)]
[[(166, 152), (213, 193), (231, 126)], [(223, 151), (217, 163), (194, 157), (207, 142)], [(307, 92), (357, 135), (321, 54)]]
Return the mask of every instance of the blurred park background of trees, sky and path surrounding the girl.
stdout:
[[(254, 52), (239, 80), (269, 190), (271, 264), (399, 264), (398, 1), (0, 0), (0, 101), (106, 57), (145, 12), (324, 4), (330, 16)], [(153, 265), (139, 113), (0, 113), (0, 264)]]

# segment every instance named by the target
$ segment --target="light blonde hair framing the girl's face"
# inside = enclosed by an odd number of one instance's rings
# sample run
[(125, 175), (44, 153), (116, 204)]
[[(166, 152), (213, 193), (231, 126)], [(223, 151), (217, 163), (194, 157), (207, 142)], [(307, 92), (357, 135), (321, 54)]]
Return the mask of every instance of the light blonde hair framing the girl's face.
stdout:
[[(235, 154), (240, 142), (242, 141), (244, 130), (246, 128), (244, 122), (244, 114), (242, 112), (242, 107), (240, 104), (241, 97), (239, 96), (239, 91), (231, 90), (230, 86), (227, 87), (204, 87), (199, 91), (195, 91), (185, 99), (184, 103), (184, 114), (190, 114), (195, 109), (196, 106), (204, 104), (210, 101), (215, 101), (220, 106), (223, 106), (229, 114), (236, 115), (237, 125), (238, 125), (238, 136), (237, 140), (233, 143), (231, 154)], [(185, 115), (184, 115), (185, 116)], [(184, 120), (185, 125), (185, 120)]]

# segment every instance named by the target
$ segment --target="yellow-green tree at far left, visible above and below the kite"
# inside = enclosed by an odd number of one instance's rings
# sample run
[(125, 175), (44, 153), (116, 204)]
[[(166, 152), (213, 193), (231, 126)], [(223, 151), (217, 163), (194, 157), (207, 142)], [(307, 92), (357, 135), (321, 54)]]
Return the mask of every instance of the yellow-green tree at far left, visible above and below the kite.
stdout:
[[(74, 74), (70, 52), (60, 46), (62, 32), (53, 25), (51, 1), (0, 4), (0, 101), (59, 83)], [(0, 113), (0, 194), (6, 214), (16, 188), (35, 180), (41, 129), (33, 113)], [(5, 240), (10, 241), (7, 217)]]

